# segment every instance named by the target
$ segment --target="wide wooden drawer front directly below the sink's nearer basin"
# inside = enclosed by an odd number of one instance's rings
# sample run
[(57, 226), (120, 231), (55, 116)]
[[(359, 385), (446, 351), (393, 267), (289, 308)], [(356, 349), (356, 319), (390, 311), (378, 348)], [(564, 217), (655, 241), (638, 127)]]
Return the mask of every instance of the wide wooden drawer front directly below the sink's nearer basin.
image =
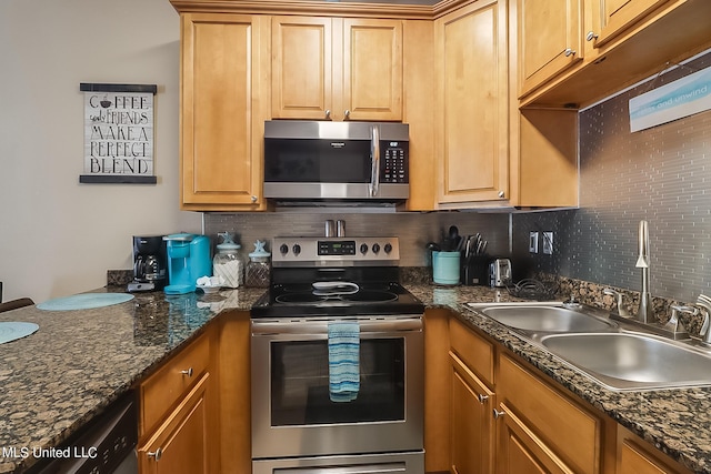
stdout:
[(574, 472), (600, 472), (602, 420), (505, 354), (499, 362), (497, 389), (500, 400)]

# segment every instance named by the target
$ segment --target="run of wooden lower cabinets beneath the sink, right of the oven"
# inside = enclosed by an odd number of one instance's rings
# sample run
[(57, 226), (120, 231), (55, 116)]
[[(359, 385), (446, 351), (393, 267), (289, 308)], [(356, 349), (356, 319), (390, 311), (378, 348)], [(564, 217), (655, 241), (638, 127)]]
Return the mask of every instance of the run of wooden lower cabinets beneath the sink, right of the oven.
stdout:
[(465, 321), (451, 314), (447, 324), (444, 314), (425, 312), (425, 333), (433, 331), (425, 336), (428, 473), (690, 473)]

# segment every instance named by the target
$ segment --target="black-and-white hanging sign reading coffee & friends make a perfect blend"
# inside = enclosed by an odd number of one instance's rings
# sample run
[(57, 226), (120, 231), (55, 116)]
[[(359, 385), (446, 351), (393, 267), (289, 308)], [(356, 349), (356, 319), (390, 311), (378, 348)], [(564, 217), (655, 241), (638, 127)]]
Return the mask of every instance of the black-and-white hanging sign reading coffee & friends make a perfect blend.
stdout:
[(153, 97), (157, 85), (81, 83), (84, 174), (80, 183), (156, 184)]

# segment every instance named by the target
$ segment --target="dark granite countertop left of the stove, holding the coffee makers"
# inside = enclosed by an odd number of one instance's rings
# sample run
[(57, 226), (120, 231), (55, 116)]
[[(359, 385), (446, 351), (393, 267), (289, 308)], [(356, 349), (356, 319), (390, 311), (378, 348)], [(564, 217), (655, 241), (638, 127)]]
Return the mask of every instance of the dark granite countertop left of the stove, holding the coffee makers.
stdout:
[(23, 447), (61, 445), (220, 312), (249, 311), (263, 293), (137, 293), (94, 310), (0, 313), (0, 321), (39, 325), (28, 337), (0, 344), (0, 473), (23, 472), (38, 461), (11, 457), (10, 448), (19, 456)]

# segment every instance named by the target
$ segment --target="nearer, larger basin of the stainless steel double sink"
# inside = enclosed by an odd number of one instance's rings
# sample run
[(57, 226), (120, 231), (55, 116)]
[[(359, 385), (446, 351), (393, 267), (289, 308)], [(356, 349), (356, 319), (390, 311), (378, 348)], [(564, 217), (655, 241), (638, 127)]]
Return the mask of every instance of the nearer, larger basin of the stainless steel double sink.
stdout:
[(711, 385), (711, 355), (653, 335), (552, 334), (540, 343), (611, 390)]

